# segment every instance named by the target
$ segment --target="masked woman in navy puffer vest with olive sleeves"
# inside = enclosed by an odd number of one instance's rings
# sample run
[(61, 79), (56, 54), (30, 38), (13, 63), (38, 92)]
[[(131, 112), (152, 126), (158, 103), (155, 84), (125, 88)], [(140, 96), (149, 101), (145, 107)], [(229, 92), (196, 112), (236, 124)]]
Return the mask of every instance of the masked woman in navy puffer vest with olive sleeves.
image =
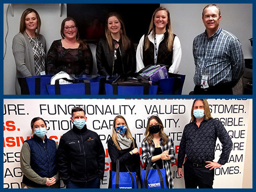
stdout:
[(45, 135), (46, 122), (41, 117), (31, 120), (31, 130), (33, 138), (26, 140), (20, 151), (22, 188), (59, 188), (57, 143)]

